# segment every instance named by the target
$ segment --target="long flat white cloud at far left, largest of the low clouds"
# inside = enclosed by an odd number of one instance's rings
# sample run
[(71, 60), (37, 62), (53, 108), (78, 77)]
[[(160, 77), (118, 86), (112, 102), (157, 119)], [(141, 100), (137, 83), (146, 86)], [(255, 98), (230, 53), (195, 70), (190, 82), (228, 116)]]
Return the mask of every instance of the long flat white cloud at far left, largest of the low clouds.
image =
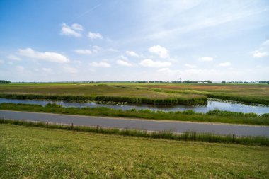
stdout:
[(69, 59), (65, 57), (63, 54), (59, 54), (56, 52), (38, 52), (34, 51), (31, 48), (19, 49), (18, 53), (33, 59), (43, 59), (48, 62), (56, 62), (56, 63), (66, 63), (69, 62)]

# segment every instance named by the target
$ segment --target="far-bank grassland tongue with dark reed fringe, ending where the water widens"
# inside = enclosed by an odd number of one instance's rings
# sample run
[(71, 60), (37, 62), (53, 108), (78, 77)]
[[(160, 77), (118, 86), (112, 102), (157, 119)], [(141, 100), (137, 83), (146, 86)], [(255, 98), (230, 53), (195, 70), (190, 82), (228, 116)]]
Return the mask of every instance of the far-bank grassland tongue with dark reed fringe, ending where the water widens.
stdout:
[(0, 85), (0, 98), (96, 100), (151, 105), (199, 105), (207, 102), (207, 97), (199, 94), (160, 93), (134, 86), (108, 86), (105, 84)]

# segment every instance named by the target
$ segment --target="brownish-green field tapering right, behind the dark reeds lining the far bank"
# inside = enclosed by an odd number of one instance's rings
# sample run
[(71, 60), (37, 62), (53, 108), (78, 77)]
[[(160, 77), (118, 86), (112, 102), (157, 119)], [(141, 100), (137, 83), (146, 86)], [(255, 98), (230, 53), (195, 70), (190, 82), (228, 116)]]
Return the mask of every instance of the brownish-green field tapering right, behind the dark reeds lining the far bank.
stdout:
[(45, 95), (79, 95), (79, 96), (131, 96), (147, 98), (193, 98), (197, 94), (165, 93), (135, 88), (135, 86), (107, 84), (12, 84), (0, 85), (0, 93), (23, 93)]

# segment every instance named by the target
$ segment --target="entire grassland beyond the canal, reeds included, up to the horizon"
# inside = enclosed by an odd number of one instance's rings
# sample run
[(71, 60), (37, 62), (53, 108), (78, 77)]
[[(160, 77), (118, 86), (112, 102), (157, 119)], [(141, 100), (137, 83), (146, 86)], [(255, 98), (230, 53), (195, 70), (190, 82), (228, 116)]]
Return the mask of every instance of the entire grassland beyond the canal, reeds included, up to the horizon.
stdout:
[(11, 83), (0, 98), (98, 100), (152, 105), (200, 105), (209, 98), (269, 105), (268, 84), (231, 83)]

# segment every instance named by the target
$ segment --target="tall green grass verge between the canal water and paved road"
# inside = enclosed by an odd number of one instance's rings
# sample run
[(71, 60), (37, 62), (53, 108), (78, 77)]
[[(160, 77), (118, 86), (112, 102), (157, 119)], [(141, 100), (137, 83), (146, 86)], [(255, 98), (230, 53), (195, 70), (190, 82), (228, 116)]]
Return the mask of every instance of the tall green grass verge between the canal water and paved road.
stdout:
[(137, 117), (154, 120), (178, 120), (193, 122), (223, 122), (231, 124), (269, 125), (269, 115), (256, 115), (254, 113), (228, 112), (213, 110), (207, 113), (194, 112), (192, 110), (163, 112), (151, 110), (115, 110), (112, 108), (63, 108), (61, 105), (48, 104), (28, 105), (1, 103), (1, 110), (21, 110), (31, 112), (50, 112), (70, 115), (92, 115), (110, 117)]

